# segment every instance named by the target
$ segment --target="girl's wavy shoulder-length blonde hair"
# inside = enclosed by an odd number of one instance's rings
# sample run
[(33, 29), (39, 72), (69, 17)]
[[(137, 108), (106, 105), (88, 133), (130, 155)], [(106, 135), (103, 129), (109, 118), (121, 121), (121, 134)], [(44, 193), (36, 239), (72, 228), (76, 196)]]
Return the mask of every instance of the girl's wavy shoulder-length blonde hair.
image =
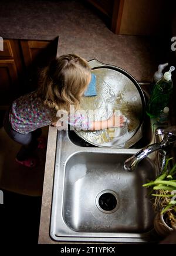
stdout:
[(86, 89), (90, 73), (87, 61), (76, 54), (61, 55), (42, 70), (36, 93), (53, 113), (52, 121), (57, 120), (59, 109), (69, 112), (71, 104), (75, 110), (80, 108), (80, 94)]

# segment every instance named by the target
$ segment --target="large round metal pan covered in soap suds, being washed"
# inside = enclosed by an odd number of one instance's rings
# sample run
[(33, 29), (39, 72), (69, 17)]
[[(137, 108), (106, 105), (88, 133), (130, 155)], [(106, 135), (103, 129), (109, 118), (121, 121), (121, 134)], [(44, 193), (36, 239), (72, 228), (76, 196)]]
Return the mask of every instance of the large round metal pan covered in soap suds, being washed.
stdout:
[[(89, 64), (97, 77), (97, 96), (82, 97), (82, 109), (86, 110), (88, 116), (89, 110), (95, 110), (93, 120), (106, 120), (114, 110), (120, 110), (128, 120), (127, 132), (124, 132), (123, 127), (95, 132), (76, 130), (76, 133), (94, 146), (131, 147), (142, 136), (145, 98), (141, 87), (129, 73), (119, 67), (97, 60), (92, 60)], [(115, 137), (112, 136), (113, 133)]]

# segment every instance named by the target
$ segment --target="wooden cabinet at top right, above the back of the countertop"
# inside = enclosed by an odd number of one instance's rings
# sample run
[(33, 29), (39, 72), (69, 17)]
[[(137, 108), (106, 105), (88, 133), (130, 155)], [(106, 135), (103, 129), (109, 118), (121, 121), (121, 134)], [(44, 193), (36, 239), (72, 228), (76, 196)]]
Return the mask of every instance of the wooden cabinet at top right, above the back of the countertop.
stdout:
[(86, 1), (109, 20), (111, 31), (121, 35), (162, 35), (163, 31), (169, 33), (176, 6), (174, 0), (168, 5), (165, 0)]

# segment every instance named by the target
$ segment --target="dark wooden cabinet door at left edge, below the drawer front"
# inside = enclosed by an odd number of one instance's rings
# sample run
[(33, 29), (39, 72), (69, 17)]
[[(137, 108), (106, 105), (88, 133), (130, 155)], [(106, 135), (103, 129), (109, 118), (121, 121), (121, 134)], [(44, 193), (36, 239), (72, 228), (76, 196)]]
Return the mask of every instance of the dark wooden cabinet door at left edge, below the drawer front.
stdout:
[(18, 74), (14, 60), (0, 60), (0, 105), (8, 106), (16, 96)]

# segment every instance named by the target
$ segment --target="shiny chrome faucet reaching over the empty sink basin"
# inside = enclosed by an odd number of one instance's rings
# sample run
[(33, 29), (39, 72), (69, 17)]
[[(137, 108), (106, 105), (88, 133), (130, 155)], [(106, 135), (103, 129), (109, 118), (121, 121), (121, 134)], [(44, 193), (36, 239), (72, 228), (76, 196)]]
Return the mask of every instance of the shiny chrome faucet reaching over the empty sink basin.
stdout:
[(163, 137), (161, 142), (153, 143), (147, 147), (144, 147), (139, 152), (137, 152), (136, 155), (129, 157), (124, 162), (124, 169), (131, 172), (132, 170), (136, 169), (136, 166), (138, 165), (140, 160), (156, 150), (163, 150), (164, 152), (162, 168), (164, 167), (165, 156), (170, 152), (171, 147), (172, 145), (174, 145), (174, 142), (176, 140), (176, 126), (170, 126), (167, 129), (157, 129), (155, 134)]

